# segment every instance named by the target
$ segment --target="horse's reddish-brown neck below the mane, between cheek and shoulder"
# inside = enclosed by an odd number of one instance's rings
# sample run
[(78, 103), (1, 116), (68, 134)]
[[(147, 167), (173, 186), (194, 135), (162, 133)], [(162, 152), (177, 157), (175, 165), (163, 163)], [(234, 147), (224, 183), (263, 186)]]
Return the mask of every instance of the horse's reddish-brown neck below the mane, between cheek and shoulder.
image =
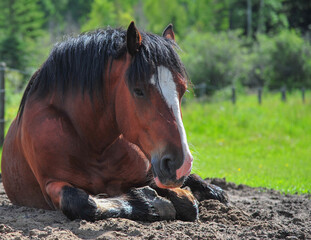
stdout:
[(130, 61), (127, 54), (114, 60), (110, 70), (105, 72), (104, 101), (94, 94), (92, 102), (87, 93), (84, 96), (74, 94), (74, 101), (67, 97), (66, 111), (70, 114), (75, 129), (98, 153), (104, 151), (121, 134), (115, 116), (115, 94), (118, 86), (125, 84), (124, 76)]

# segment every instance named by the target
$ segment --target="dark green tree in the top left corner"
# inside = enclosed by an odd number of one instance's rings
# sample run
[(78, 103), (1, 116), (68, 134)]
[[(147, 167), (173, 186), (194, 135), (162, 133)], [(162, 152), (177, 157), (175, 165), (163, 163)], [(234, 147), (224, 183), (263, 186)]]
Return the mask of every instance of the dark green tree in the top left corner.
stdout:
[(25, 68), (35, 40), (43, 33), (38, 1), (2, 0), (0, 15), (0, 58), (10, 67)]

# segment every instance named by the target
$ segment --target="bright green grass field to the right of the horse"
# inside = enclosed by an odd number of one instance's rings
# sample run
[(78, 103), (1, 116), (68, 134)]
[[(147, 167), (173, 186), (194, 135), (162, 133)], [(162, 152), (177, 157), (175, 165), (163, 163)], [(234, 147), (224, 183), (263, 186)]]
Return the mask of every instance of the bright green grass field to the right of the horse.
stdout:
[[(309, 97), (309, 96), (306, 96)], [(293, 94), (183, 107), (193, 172), (285, 193), (311, 192), (311, 103)]]

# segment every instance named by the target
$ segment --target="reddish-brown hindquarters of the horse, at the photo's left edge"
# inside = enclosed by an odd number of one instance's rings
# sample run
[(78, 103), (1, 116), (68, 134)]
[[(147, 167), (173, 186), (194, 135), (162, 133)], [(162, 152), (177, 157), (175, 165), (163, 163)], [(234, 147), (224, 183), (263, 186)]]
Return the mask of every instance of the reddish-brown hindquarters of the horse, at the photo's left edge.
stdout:
[(23, 155), (19, 128), (14, 120), (3, 145), (1, 169), (5, 191), (16, 205), (50, 209)]

